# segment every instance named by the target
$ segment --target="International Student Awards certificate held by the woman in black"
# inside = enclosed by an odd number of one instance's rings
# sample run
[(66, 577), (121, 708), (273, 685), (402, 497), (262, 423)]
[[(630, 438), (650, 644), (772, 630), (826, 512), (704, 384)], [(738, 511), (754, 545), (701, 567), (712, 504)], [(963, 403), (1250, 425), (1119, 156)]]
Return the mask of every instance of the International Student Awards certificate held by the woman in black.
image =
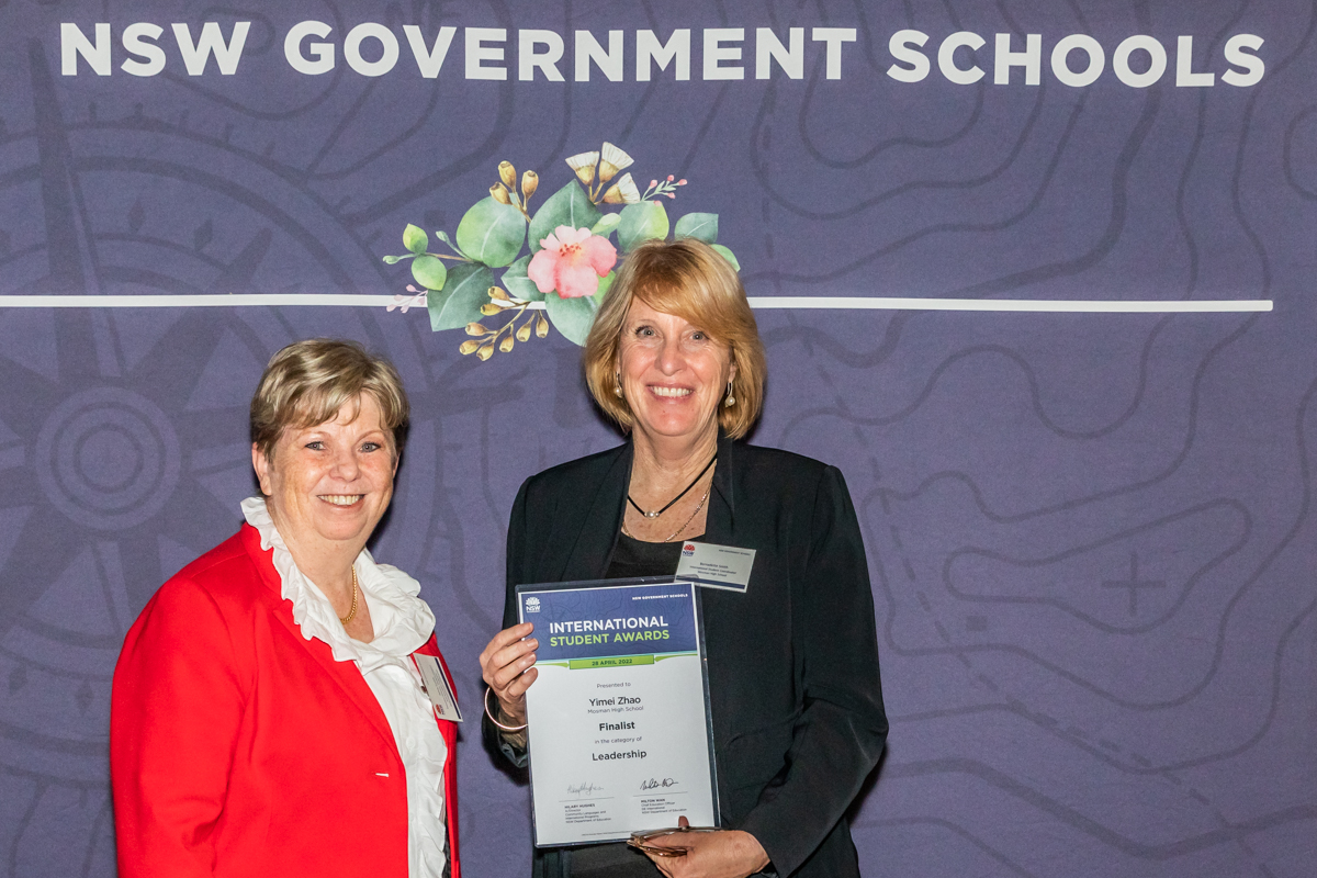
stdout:
[(539, 677), (525, 692), (536, 846), (716, 825), (695, 586), (670, 577), (518, 586)]

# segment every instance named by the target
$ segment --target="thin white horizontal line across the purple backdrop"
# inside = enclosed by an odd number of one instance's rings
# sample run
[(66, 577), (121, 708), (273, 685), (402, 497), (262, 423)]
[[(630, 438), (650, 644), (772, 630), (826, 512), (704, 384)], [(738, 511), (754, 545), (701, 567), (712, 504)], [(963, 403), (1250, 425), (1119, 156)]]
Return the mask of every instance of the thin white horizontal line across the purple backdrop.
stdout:
[[(234, 294), (195, 296), (0, 296), (0, 308), (379, 308), (394, 296), (348, 294)], [(752, 308), (871, 311), (1018, 311), (1064, 313), (1218, 313), (1271, 311), (1270, 299), (932, 299), (881, 296), (749, 296)], [(544, 303), (532, 301), (532, 309)]]

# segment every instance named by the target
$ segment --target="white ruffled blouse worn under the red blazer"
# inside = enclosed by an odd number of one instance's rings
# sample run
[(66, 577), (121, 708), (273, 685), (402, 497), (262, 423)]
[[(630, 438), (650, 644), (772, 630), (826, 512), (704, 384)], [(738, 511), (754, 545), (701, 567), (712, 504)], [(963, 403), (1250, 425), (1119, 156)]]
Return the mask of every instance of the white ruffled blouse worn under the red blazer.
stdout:
[(354, 563), (361, 595), (370, 609), (375, 638), (353, 640), (324, 592), (298, 570), (288, 546), (274, 527), (265, 498), (242, 502), (248, 524), (259, 530), (261, 549), (274, 548), (274, 569), (292, 620), (307, 640), (320, 640), (335, 661), (356, 662), (394, 731), (407, 771), (407, 861), (411, 878), (440, 878), (446, 862), (444, 823), (444, 762), (448, 746), (435, 723), (435, 711), (421, 688), (411, 654), (429, 640), (435, 613), (416, 595), (420, 583), (390, 565), (375, 563), (361, 550)]

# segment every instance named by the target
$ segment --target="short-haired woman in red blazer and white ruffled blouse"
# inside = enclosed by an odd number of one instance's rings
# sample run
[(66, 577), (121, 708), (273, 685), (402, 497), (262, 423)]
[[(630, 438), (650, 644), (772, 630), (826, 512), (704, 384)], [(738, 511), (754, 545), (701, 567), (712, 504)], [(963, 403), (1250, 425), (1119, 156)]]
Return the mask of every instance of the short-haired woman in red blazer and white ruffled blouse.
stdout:
[(407, 415), (398, 373), (358, 345), (270, 361), (252, 400), (263, 496), (151, 598), (115, 670), (124, 878), (460, 878), (435, 616), (365, 548)]

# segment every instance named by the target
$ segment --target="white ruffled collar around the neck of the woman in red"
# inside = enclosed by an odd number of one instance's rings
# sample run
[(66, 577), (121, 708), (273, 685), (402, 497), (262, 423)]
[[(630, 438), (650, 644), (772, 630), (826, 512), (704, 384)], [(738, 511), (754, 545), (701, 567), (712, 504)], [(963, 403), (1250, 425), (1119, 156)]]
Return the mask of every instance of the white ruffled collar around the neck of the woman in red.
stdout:
[(353, 661), (367, 673), (379, 665), (394, 663), (411, 656), (429, 640), (435, 631), (435, 613), (417, 598), (420, 583), (402, 570), (375, 563), (370, 552), (361, 550), (353, 566), (366, 604), (370, 607), (375, 638), (369, 644), (353, 640), (338, 621), (338, 613), (324, 592), (292, 561), (292, 553), (274, 527), (265, 498), (242, 500), (242, 515), (261, 533), (261, 549), (274, 549), (274, 569), (279, 574), (281, 594), (292, 603), (292, 621), (307, 640), (320, 640), (333, 650), (335, 661)]

